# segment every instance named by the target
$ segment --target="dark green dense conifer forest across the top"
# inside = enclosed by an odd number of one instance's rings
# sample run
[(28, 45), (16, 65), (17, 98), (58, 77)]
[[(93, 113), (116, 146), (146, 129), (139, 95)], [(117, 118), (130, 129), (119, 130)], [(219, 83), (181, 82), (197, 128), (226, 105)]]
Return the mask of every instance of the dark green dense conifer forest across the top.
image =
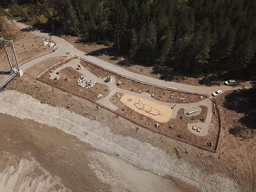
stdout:
[(12, 17), (188, 74), (255, 79), (255, 0), (3, 0)]

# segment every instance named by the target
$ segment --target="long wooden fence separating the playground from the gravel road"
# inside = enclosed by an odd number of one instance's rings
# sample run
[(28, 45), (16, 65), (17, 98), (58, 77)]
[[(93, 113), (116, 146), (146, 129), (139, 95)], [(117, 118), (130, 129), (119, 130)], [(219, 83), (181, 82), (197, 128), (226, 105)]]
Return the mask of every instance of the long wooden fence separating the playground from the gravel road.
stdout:
[(153, 84), (153, 83), (148, 83), (148, 82), (145, 82), (145, 81), (140, 81), (140, 80), (138, 80), (138, 79), (135, 79), (135, 78), (132, 78), (132, 77), (129, 77), (129, 76), (126, 76), (126, 75), (122, 75), (122, 74), (117, 73), (117, 72), (115, 72), (115, 71), (109, 70), (109, 69), (107, 69), (107, 68), (105, 68), (105, 67), (102, 67), (102, 66), (96, 64), (96, 63), (90, 62), (90, 61), (88, 61), (88, 60), (86, 60), (86, 59), (84, 59), (84, 58), (82, 58), (82, 57), (80, 57), (80, 60), (85, 61), (85, 62), (87, 62), (87, 63), (90, 63), (90, 64), (92, 64), (92, 65), (94, 65), (94, 66), (96, 66), (96, 67), (99, 67), (99, 68), (101, 68), (101, 69), (103, 69), (103, 70), (105, 70), (105, 71), (108, 71), (108, 72), (110, 72), (110, 73), (116, 74), (116, 75), (118, 75), (118, 76), (124, 77), (124, 78), (129, 79), (129, 80), (132, 80), (132, 81), (136, 81), (136, 82), (139, 82), (139, 83), (142, 83), (142, 84), (154, 86), (154, 87), (161, 88), (161, 89), (176, 91), (176, 92), (180, 92), (180, 93), (188, 93), (188, 94), (194, 94), (194, 95), (202, 95), (202, 96), (205, 96), (205, 97), (209, 98), (209, 95), (206, 94), (206, 93), (196, 93), (196, 92), (191, 92), (191, 91), (184, 91), (184, 90), (169, 88), (169, 87), (165, 87), (165, 86), (161, 86), (161, 85), (156, 85), (156, 84)]

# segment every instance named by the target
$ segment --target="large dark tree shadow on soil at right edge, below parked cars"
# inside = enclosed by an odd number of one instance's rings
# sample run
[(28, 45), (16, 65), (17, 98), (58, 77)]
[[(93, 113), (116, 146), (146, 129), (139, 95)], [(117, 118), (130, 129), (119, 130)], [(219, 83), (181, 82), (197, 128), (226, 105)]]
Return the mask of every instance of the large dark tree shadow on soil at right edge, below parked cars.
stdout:
[(229, 130), (230, 134), (238, 137), (254, 138), (256, 134), (256, 88), (235, 90), (225, 96), (223, 107), (243, 113), (239, 120), (234, 120), (234, 128)]

